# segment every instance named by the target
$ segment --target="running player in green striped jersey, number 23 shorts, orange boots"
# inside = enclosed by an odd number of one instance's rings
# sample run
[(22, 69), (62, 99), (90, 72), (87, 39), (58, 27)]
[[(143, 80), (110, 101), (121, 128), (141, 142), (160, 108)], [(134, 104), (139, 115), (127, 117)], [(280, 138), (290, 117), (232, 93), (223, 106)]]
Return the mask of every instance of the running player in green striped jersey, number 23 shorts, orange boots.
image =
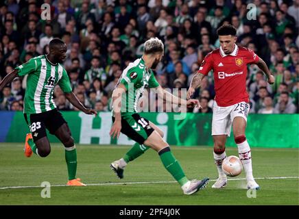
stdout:
[(51, 151), (46, 129), (55, 135), (64, 145), (65, 159), (69, 173), (67, 185), (84, 185), (76, 179), (77, 152), (67, 122), (58, 112), (53, 101), (53, 90), (58, 84), (71, 104), (86, 114), (97, 114), (86, 109), (71, 90), (67, 71), (60, 64), (66, 58), (67, 46), (60, 39), (49, 43), (49, 54), (34, 57), (25, 64), (16, 67), (0, 82), (0, 91), (15, 77), (28, 75), (24, 97), (24, 116), (31, 133), (25, 139), (25, 155), (32, 153), (47, 157)]

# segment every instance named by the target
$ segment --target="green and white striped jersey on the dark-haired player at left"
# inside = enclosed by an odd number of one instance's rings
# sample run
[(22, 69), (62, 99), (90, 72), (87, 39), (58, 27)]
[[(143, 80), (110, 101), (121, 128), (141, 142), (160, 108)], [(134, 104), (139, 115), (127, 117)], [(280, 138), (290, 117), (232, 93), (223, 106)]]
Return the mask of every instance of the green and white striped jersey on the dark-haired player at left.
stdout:
[(28, 75), (24, 98), (24, 113), (39, 114), (56, 108), (53, 92), (56, 84), (63, 92), (71, 92), (67, 71), (61, 64), (51, 64), (46, 55), (40, 55), (16, 67), (19, 77)]

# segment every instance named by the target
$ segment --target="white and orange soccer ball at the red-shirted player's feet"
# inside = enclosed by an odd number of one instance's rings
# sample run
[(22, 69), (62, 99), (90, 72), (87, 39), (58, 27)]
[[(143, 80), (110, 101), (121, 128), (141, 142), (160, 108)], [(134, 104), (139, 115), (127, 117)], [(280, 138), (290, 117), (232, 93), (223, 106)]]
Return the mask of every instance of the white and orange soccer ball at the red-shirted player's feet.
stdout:
[(229, 156), (222, 162), (222, 170), (228, 177), (237, 177), (243, 170), (243, 165), (239, 157)]

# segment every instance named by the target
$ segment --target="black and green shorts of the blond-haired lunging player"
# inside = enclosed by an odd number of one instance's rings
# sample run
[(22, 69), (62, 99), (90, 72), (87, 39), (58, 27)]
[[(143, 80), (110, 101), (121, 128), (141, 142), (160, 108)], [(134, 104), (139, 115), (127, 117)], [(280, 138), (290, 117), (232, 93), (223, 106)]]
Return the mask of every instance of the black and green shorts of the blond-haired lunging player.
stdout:
[[(112, 121), (113, 123), (115, 122), (115, 117), (113, 116)], [(139, 144), (143, 144), (153, 131), (154, 129), (150, 127), (149, 120), (141, 117), (139, 114), (121, 116), (121, 133)]]

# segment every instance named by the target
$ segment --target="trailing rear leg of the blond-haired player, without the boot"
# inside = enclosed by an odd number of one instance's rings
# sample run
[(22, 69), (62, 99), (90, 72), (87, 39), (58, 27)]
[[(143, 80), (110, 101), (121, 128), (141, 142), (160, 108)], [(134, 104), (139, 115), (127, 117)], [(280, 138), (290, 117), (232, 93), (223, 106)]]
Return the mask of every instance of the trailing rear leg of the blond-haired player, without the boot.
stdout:
[[(159, 129), (156, 125), (154, 125), (154, 123), (150, 122), (150, 127), (152, 127), (155, 131), (157, 131), (158, 134), (163, 138), (164, 136), (163, 131)], [(145, 151), (147, 151), (148, 149), (150, 149), (149, 146), (146, 146), (144, 144), (139, 144), (138, 142), (136, 142), (132, 146), (132, 148), (127, 153), (125, 153), (125, 155), (121, 159), (119, 159), (119, 161), (122, 164), (121, 166), (124, 168), (129, 162), (132, 162), (137, 157), (143, 155), (143, 153), (145, 153)]]

